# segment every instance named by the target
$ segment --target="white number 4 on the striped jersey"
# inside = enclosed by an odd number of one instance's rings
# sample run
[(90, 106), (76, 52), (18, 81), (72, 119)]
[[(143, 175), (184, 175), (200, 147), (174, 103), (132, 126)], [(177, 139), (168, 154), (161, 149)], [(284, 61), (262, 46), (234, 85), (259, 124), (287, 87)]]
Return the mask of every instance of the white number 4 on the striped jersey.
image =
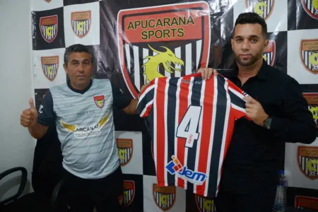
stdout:
[(177, 137), (186, 139), (185, 146), (192, 148), (194, 140), (199, 139), (198, 126), (201, 116), (201, 106), (190, 105), (177, 127)]

